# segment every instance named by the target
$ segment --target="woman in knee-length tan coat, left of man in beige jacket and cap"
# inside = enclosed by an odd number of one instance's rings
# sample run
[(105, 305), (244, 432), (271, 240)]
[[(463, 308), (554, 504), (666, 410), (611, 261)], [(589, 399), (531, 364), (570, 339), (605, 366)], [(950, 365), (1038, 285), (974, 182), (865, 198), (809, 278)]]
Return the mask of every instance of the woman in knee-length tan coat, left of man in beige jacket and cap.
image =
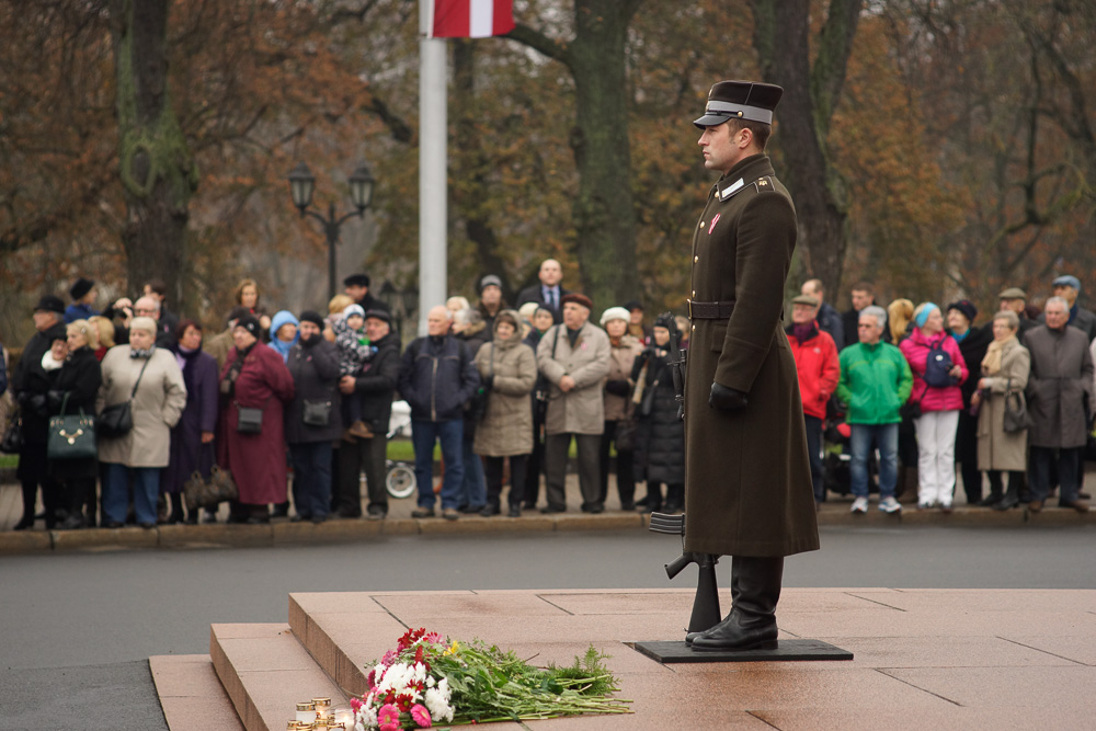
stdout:
[(502, 310), (494, 320), (494, 339), (476, 354), (476, 368), (488, 390), (483, 419), (476, 426), (472, 452), (483, 456), (487, 478), (484, 517), (498, 515), (502, 496), (502, 461), (510, 457), (510, 517), (522, 514), (525, 468), (533, 452), (533, 408), (529, 393), (537, 380), (533, 349), (522, 342), (521, 320)]

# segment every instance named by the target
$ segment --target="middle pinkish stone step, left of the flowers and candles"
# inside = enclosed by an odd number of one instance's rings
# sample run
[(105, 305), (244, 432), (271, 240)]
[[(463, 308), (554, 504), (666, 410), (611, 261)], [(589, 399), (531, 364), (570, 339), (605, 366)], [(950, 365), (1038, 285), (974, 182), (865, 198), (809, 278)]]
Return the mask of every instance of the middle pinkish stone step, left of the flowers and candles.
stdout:
[(288, 625), (212, 625), (209, 655), (247, 731), (283, 731), (295, 705), (315, 697), (350, 707)]

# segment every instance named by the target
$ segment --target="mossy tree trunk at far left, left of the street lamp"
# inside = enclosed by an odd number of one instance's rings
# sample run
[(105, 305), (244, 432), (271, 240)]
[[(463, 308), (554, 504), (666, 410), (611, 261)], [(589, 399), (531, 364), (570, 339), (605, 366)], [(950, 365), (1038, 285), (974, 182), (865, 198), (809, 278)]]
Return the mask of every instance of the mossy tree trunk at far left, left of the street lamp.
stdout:
[(169, 304), (179, 311), (197, 170), (168, 92), (170, 4), (170, 0), (111, 0), (111, 35), (126, 202), (122, 245), (129, 289), (162, 279)]

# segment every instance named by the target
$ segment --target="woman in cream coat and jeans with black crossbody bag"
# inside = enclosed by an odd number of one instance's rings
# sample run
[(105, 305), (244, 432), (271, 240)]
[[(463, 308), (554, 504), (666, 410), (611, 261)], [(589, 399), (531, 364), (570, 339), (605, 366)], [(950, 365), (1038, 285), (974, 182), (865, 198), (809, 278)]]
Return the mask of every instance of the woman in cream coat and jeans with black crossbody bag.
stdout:
[[(129, 483), (142, 528), (156, 526), (160, 470), (171, 457), (171, 427), (186, 407), (186, 386), (174, 353), (156, 346), (156, 321), (134, 318), (129, 344), (115, 345), (103, 357), (103, 384), (96, 411), (130, 401), (133, 429), (122, 436), (100, 437), (104, 465), (103, 519), (117, 528), (126, 519)], [(136, 386), (136, 390), (134, 387)]]

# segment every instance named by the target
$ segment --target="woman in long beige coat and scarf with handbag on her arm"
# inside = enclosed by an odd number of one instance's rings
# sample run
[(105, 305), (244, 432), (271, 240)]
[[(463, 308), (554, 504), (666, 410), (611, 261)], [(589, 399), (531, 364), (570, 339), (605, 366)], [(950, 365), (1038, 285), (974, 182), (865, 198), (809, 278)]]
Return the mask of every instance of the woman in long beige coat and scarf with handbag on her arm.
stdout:
[[(1031, 369), (1031, 354), (1016, 339), (1020, 322), (1004, 310), (993, 316), (993, 342), (982, 359), (982, 378), (971, 403), (978, 404), (978, 468), (990, 479), (993, 510), (1019, 504), (1019, 489), (1027, 471), (1027, 430), (1006, 432), (1005, 393), (1025, 407), (1024, 389)], [(1008, 492), (1002, 495), (1001, 472), (1008, 472)]]

